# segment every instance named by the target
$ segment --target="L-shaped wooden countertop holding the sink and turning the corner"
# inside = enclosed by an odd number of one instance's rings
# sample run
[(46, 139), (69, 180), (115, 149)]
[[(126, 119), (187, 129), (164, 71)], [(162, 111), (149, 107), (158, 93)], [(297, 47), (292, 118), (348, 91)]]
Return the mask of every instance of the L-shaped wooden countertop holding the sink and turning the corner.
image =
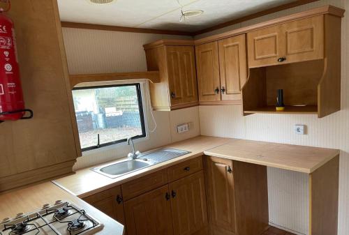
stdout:
[[(166, 147), (191, 151), (185, 156), (174, 158), (139, 171), (110, 179), (91, 171), (92, 167), (77, 170), (76, 174), (54, 181), (57, 185), (77, 197), (83, 198), (107, 190), (146, 174), (165, 169), (179, 162), (202, 156), (217, 156), (258, 165), (289, 169), (310, 174), (327, 161), (339, 155), (337, 149), (322, 149), (310, 146), (257, 142), (246, 139), (199, 136), (170, 144)], [(102, 164), (104, 165), (104, 164)], [(98, 166), (96, 166), (98, 167)]]

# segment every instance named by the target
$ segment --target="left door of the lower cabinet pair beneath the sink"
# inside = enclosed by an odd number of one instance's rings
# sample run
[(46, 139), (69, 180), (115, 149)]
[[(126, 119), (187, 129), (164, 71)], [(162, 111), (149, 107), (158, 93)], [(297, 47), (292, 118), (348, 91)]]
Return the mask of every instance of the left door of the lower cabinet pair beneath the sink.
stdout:
[(124, 207), (128, 235), (173, 234), (168, 185), (130, 199)]

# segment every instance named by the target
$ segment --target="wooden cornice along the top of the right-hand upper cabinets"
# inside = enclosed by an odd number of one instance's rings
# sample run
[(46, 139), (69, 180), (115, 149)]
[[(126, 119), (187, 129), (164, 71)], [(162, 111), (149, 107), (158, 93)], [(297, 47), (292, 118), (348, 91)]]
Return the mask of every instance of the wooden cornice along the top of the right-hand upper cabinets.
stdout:
[(249, 31), (254, 31), (257, 29), (263, 29), (266, 28), (268, 26), (274, 26), (276, 24), (283, 24), (285, 22), (290, 22), (292, 20), (300, 20), (300, 19), (304, 19), (306, 17), (311, 17), (311, 16), (315, 16), (315, 15), (334, 15), (336, 17), (343, 17), (344, 16), (344, 12), (345, 10), (341, 9), (341, 8), (336, 8), (335, 6), (321, 6), (319, 8), (313, 8), (311, 10), (306, 10), (306, 11), (302, 11), (299, 13), (295, 13), (292, 15), (286, 15), (284, 17), (278, 17), (274, 20), (268, 20), (266, 22), (261, 22), (258, 24), (252, 24), (251, 26), (246, 26), (243, 28), (239, 28), (239, 29), (234, 29), (231, 31), (227, 31), (224, 33), (219, 33), (219, 34), (215, 34), (213, 36), (208, 36), (205, 38), (200, 38), (195, 40), (195, 45), (200, 45), (200, 44), (204, 44), (204, 43), (209, 43), (212, 41), (216, 41), (216, 40), (221, 40), (223, 38), (229, 38), (231, 36), (236, 36), (242, 33), (248, 33)]

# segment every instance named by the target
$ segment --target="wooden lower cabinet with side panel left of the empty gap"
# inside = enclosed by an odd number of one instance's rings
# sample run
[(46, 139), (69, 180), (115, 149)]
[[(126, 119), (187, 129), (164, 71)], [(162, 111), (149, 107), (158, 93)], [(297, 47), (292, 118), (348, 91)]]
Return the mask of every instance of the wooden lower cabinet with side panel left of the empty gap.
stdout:
[(211, 235), (259, 235), (269, 221), (267, 167), (205, 157)]

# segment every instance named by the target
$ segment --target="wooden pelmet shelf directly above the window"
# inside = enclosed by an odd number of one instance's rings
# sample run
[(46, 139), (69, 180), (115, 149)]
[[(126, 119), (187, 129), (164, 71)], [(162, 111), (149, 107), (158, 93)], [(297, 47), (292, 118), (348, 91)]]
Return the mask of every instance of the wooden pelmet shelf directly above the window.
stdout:
[(120, 80), (149, 79), (151, 82), (160, 82), (158, 71), (133, 72), (133, 73), (96, 73), (70, 75), (70, 86), (73, 89), (82, 82), (107, 82)]

